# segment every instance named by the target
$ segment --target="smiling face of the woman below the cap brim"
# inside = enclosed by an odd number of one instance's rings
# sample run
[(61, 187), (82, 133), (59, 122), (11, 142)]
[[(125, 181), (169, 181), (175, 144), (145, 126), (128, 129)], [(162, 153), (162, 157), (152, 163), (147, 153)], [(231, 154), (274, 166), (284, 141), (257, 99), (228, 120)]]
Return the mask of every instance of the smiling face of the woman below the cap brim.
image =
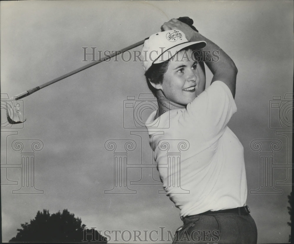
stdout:
[(191, 55), (192, 50), (178, 52), (178, 57), (169, 62), (162, 84), (158, 85), (168, 100), (180, 105), (187, 105), (203, 91), (199, 89), (198, 64)]

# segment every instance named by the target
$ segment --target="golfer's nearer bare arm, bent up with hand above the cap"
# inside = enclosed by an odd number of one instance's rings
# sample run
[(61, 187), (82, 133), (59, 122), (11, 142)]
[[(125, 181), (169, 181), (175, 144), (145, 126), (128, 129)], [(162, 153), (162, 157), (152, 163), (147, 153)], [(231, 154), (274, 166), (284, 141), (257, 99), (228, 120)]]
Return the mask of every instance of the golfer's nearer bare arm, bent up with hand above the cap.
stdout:
[[(183, 22), (177, 20), (177, 19), (171, 19), (168, 22), (165, 22), (161, 26), (162, 30), (171, 30), (171, 29), (178, 29), (185, 33), (186, 38), (191, 41), (206, 41), (206, 47), (203, 48), (202, 57), (206, 55), (205, 60), (203, 60), (208, 68), (213, 73), (213, 78), (211, 80), (211, 83), (213, 83), (216, 80), (220, 80), (223, 83), (225, 83), (231, 90), (233, 97), (235, 97), (235, 90), (236, 90), (236, 76), (237, 76), (237, 67), (235, 66), (235, 63), (233, 60), (220, 48), (218, 45), (213, 43), (211, 40), (207, 39), (200, 33), (194, 31), (190, 26), (187, 24), (184, 24)], [(212, 55), (212, 53), (218, 52), (218, 61), (206, 61), (206, 60), (213, 60), (216, 59), (215, 56)]]

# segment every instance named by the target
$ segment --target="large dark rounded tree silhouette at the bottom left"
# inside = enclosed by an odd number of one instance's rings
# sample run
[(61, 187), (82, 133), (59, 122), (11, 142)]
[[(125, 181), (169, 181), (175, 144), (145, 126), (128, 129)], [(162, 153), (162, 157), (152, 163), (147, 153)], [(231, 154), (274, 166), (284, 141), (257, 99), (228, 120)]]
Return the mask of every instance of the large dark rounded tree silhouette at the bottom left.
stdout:
[[(67, 209), (52, 215), (49, 210), (44, 209), (43, 213), (38, 211), (35, 219), (29, 224), (21, 224), (22, 229), (17, 229), (16, 237), (9, 242), (107, 243), (107, 239), (97, 230), (87, 231), (86, 225), (81, 223), (82, 220), (75, 218)], [(95, 235), (86, 235), (84, 232)]]

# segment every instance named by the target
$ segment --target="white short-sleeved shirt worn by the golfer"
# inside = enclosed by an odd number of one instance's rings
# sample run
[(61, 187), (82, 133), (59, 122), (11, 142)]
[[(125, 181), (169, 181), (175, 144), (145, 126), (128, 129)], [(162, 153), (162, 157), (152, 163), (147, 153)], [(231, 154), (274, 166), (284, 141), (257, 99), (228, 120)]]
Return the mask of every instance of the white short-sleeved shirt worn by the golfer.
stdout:
[(245, 206), (243, 146), (227, 126), (236, 111), (228, 86), (215, 81), (186, 108), (146, 121), (163, 189), (181, 217)]

